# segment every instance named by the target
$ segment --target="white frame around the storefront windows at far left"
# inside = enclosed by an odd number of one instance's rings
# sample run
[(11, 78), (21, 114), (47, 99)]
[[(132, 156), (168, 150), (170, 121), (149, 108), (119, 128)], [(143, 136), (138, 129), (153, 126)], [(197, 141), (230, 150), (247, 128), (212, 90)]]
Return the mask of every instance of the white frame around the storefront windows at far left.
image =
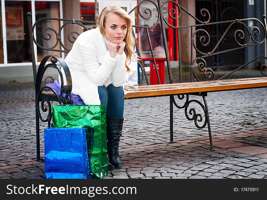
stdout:
[[(16, 0), (13, 0), (16, 1)], [(20, 0), (20, 1), (31, 1), (32, 5), (32, 24), (35, 23), (35, 2), (44, 1), (44, 0)], [(63, 8), (62, 8), (62, 0), (46, 0), (46, 2), (59, 2), (59, 17), (63, 18)], [(7, 46), (6, 46), (6, 23), (5, 23), (5, 0), (1, 0), (1, 13), (2, 13), (2, 35), (3, 35), (3, 56), (4, 56), (4, 63), (0, 64), (0, 67), (6, 66), (31, 66), (32, 62), (28, 63), (8, 63), (7, 60)], [(24, 16), (26, 17), (26, 16)], [(60, 21), (60, 26), (63, 25), (63, 22)], [(62, 30), (63, 31), (63, 30)], [(36, 29), (34, 30), (34, 37), (36, 38)], [(62, 32), (62, 40), (64, 40), (64, 31)], [(29, 46), (30, 48), (30, 46)], [(63, 47), (61, 47), (63, 50)], [(35, 60), (37, 61), (37, 46), (34, 44), (34, 52), (35, 52)], [(64, 59), (64, 53), (61, 54), (62, 58)], [(36, 65), (39, 66), (41, 62), (36, 62)]]

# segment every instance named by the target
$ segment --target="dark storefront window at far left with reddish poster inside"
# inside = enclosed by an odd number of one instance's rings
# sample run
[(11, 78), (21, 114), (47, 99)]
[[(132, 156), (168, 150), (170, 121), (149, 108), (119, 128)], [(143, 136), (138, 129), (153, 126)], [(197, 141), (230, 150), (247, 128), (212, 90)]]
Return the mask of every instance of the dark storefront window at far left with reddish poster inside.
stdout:
[(32, 60), (26, 18), (26, 13), (31, 12), (30, 5), (30, 1), (5, 1), (8, 63), (25, 63)]

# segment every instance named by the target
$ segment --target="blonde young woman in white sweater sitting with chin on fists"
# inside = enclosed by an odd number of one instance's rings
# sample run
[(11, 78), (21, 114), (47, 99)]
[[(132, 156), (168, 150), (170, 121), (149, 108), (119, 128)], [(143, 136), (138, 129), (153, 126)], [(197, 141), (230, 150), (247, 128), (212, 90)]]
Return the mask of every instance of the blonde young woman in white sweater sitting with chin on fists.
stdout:
[(72, 77), (72, 93), (85, 104), (106, 105), (109, 169), (122, 166), (118, 148), (123, 126), (123, 85), (134, 63), (130, 61), (136, 57), (131, 22), (121, 7), (106, 6), (97, 19), (97, 28), (81, 33), (65, 59)]

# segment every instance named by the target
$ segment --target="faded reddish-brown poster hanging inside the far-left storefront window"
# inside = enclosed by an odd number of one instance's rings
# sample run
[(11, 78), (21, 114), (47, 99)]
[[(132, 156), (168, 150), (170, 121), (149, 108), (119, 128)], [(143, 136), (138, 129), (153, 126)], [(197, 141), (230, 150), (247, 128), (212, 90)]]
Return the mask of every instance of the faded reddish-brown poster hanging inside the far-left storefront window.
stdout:
[(6, 40), (24, 40), (23, 8), (6, 7)]

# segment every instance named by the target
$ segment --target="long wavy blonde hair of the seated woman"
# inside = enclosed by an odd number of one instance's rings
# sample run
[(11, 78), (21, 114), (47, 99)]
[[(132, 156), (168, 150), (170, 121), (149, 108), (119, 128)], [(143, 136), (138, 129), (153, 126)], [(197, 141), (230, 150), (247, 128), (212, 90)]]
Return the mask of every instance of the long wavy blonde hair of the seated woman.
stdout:
[[(104, 24), (106, 22), (106, 18), (109, 13), (116, 14), (120, 16), (121, 18), (126, 19), (127, 21), (127, 33), (123, 41), (126, 43), (124, 47), (124, 52), (126, 54), (126, 62), (125, 62), (125, 67), (127, 69), (127, 72), (130, 71), (130, 68), (127, 64), (128, 61), (131, 62), (131, 57), (135, 58), (133, 55), (135, 55), (134, 51), (134, 36), (132, 33), (132, 22), (133, 20), (131, 19), (130, 15), (123, 10), (123, 8), (117, 6), (117, 5), (107, 5), (102, 12), (100, 13), (99, 17), (96, 20), (96, 25), (99, 27), (100, 33), (105, 36), (105, 29), (104, 29)], [(129, 62), (129, 63), (130, 63)]]

